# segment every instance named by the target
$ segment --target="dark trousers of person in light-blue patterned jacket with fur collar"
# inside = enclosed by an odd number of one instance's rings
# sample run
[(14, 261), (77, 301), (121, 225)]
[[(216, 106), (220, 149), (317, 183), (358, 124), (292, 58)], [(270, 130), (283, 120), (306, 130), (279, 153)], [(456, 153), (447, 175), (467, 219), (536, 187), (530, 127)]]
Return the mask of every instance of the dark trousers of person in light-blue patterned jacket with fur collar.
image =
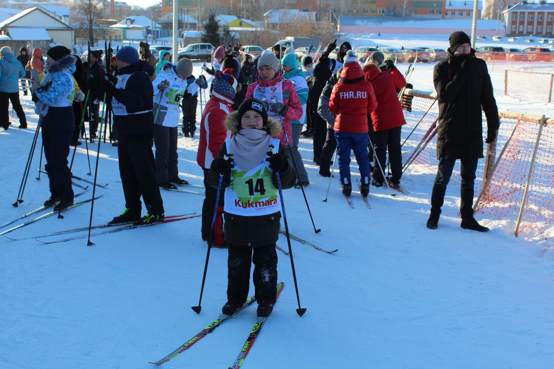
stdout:
[[(50, 108), (52, 110), (52, 108)], [(48, 119), (50, 112), (43, 118)], [(50, 194), (62, 200), (73, 200), (73, 188), (71, 186), (71, 175), (68, 167), (69, 145), (71, 143), (71, 131), (56, 131), (42, 127), (42, 144), (44, 145), (44, 157), (46, 165), (44, 169), (48, 173)]]

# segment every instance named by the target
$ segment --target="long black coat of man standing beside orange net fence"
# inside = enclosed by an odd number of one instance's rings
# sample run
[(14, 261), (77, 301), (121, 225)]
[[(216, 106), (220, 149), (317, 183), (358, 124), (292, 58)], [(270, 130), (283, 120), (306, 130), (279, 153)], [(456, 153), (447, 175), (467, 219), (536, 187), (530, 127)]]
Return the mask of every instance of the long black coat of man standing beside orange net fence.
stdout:
[[(461, 70), (461, 63), (471, 62), (471, 69)], [(493, 95), (484, 60), (469, 55), (454, 55), (434, 67), (433, 82), (439, 96), (439, 128), (437, 132), (437, 158), (483, 158), (483, 115), (485, 112), (489, 130), (500, 125), (498, 108)]]

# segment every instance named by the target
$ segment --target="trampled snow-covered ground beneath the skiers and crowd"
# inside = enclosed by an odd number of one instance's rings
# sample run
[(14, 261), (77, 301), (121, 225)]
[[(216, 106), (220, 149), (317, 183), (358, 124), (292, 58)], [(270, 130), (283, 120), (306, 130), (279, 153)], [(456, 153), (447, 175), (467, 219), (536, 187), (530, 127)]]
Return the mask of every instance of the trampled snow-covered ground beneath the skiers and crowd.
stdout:
[[(397, 46), (392, 40), (389, 45)], [(411, 80), (417, 89), (433, 89), (432, 68), (417, 65)], [(199, 64), (194, 71), (199, 74)], [(499, 107), (523, 111), (526, 105), (510, 105), (499, 96), (503, 75), (495, 67)], [(10, 205), (38, 120), (30, 98), (22, 100), (29, 128), (12, 128), (18, 126), (16, 117), (11, 128), (0, 131), (0, 224), (49, 197), (47, 177), (35, 180), (37, 150), (25, 201), (18, 208)], [(527, 112), (546, 111), (552, 113), (552, 107), (532, 105)], [(179, 175), (201, 185), (197, 138), (179, 138)], [(97, 145), (89, 144), (93, 174)], [(554, 253), (514, 238), (510, 220), (477, 215), (490, 232), (461, 229), (459, 186), (449, 186), (439, 228), (428, 230), (434, 176), (416, 166), (402, 178), (409, 195), (392, 198), (386, 188), (372, 187), (371, 210), (356, 193), (355, 209), (348, 207), (338, 176), (329, 200), (322, 202), (329, 179), (317, 174), (311, 161), (311, 139), (301, 139), (300, 150), (311, 182), (306, 196), (321, 232), (314, 234), (301, 191), (295, 189), (284, 191), (290, 232), (338, 252), (291, 241), (300, 300), (307, 308), (301, 318), (289, 259), (279, 253), (279, 281), (285, 287), (244, 368), (552, 368)], [(351, 169), (353, 179), (359, 178), (355, 162)], [(83, 144), (73, 172), (92, 180), (88, 171)], [(124, 209), (117, 148), (108, 143), (100, 148), (98, 178), (109, 185), (96, 189), (104, 197), (95, 202), (93, 224)], [(91, 194), (89, 188), (79, 199)], [(201, 213), (202, 196), (162, 191), (162, 197), (166, 215)], [(86, 226), (89, 215), (90, 205), (83, 205), (65, 212), (65, 219), (49, 217), (8, 236)], [(44, 245), (1, 237), (0, 367), (154, 367), (148, 361), (191, 339), (217, 318), (226, 301), (227, 250), (213, 248), (202, 312), (190, 309), (198, 303), (206, 257), (200, 226), (197, 217), (102, 235), (91, 239), (96, 246), (86, 246), (86, 238)], [(278, 245), (287, 248), (284, 236)], [(242, 311), (163, 367), (229, 367), (255, 314), (255, 306)]]

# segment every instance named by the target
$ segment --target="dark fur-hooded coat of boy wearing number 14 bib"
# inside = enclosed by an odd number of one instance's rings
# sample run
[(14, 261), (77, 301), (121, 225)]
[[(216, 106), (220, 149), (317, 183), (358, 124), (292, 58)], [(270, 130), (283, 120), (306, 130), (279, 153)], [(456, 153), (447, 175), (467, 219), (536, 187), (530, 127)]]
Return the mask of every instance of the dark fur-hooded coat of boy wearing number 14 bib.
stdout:
[[(227, 118), (225, 118), (225, 127), (233, 134), (238, 132), (237, 127), (240, 122), (238, 121), (238, 113), (232, 112)], [(269, 118), (265, 127), (269, 128), (271, 137), (278, 138), (281, 134), (281, 124), (273, 119)], [(278, 151), (285, 160), (288, 162), (288, 167), (279, 172), (281, 179), (281, 189), (292, 188), (296, 181), (294, 175), (293, 164), (290, 162), (288, 155), (283, 144), (279, 143)], [(223, 145), (219, 149), (217, 157), (222, 157), (227, 154), (227, 144), (223, 142)], [(214, 160), (215, 162), (215, 160)], [(213, 163), (212, 162), (212, 167)], [(217, 188), (219, 183), (219, 174), (212, 168), (208, 171), (207, 181), (210, 186)], [(229, 176), (223, 176), (222, 188), (230, 185)], [(278, 188), (277, 175), (273, 173), (273, 185)], [(271, 245), (277, 242), (279, 239), (279, 230), (281, 229), (281, 212), (274, 212), (273, 214), (260, 215), (260, 216), (242, 216), (235, 214), (223, 214), (225, 225), (225, 241), (232, 243), (233, 245), (242, 245), (250, 247), (259, 247)]]

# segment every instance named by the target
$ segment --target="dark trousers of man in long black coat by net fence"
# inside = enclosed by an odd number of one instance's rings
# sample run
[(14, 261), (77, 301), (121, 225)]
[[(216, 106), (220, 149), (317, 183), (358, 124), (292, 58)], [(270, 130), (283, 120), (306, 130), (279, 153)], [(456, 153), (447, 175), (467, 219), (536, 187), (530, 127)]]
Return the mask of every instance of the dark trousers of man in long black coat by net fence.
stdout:
[[(431, 214), (440, 214), (440, 207), (443, 206), (444, 194), (447, 191), (447, 185), (455, 163), (456, 159), (439, 159), (439, 168), (431, 194)], [(473, 216), (473, 185), (477, 163), (478, 159), (460, 159), (460, 214), (462, 218)]]

